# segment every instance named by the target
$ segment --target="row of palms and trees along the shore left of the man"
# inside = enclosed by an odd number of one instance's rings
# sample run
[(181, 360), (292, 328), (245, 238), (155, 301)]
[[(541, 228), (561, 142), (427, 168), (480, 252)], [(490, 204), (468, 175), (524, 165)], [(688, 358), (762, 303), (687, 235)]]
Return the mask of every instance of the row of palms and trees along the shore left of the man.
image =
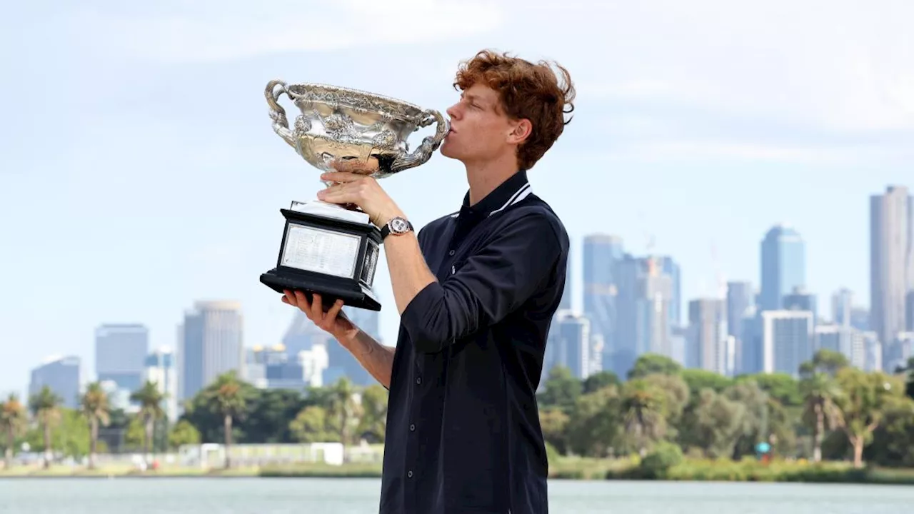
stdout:
[[(165, 394), (153, 382), (133, 391), (136, 412), (112, 407), (101, 383), (90, 383), (79, 408), (47, 386), (20, 402), (12, 393), (0, 403), (0, 449), (5, 467), (16, 451), (42, 452), (46, 468), (59, 457), (86, 457), (90, 469), (99, 453), (142, 453), (147, 464), (156, 453), (182, 444), (288, 444), (366, 439), (383, 442), (388, 392), (380, 385), (357, 388), (341, 379), (329, 387), (260, 390), (230, 371), (184, 403), (177, 420), (167, 420)], [(231, 466), (227, 460), (226, 466)]]

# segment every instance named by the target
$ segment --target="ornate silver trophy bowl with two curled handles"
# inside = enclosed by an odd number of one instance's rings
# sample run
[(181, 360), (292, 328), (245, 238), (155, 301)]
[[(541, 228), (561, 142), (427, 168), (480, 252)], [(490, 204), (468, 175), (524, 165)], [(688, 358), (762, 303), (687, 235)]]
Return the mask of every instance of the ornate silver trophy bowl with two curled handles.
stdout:
[[(366, 91), (271, 80), (264, 92), (276, 134), (324, 171), (335, 161), (355, 161), (346, 162), (347, 169), (389, 177), (428, 161), (450, 128), (441, 112)], [(278, 102), (282, 93), (298, 108), (292, 128)], [(435, 122), (435, 134), (409, 153), (409, 134)]]

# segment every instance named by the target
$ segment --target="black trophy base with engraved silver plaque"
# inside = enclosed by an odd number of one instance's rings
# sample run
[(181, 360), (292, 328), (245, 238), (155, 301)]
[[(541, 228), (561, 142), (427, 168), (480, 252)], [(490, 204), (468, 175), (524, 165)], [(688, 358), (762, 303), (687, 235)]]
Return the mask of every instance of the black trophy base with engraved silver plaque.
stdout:
[[(341, 209), (345, 210), (345, 209)], [(326, 311), (338, 299), (344, 305), (379, 311), (372, 292), (381, 232), (371, 223), (313, 212), (280, 209), (285, 217), (276, 267), (260, 274), (260, 283), (282, 294), (301, 291), (310, 302), (321, 295)]]

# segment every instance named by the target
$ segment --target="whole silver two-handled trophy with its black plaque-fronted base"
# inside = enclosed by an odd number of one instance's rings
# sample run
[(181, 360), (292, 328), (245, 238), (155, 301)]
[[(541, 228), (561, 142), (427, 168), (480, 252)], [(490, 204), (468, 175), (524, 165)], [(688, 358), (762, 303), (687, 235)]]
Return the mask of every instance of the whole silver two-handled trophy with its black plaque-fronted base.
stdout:
[[(322, 172), (345, 167), (389, 177), (427, 162), (450, 128), (441, 112), (365, 91), (271, 80), (264, 92), (273, 131)], [(283, 93), (298, 108), (291, 128), (279, 104)], [(436, 122), (435, 134), (410, 152), (409, 135)], [(260, 275), (262, 284), (280, 293), (302, 291), (309, 300), (320, 294), (324, 307), (343, 299), (345, 305), (380, 310), (372, 284), (381, 233), (365, 212), (317, 199), (292, 201), (280, 212), (285, 230), (279, 258)]]

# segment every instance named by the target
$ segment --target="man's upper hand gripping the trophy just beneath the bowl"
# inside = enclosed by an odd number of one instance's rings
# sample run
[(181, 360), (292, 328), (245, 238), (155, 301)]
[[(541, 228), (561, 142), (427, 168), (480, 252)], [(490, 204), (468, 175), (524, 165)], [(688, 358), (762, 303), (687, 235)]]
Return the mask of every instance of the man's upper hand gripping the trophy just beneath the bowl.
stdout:
[[(341, 169), (341, 166), (336, 166)], [(356, 204), (377, 227), (384, 226), (391, 218), (403, 212), (373, 177), (351, 171), (332, 171), (321, 175), (321, 180), (336, 182), (334, 186), (318, 191), (317, 198), (336, 204)]]

